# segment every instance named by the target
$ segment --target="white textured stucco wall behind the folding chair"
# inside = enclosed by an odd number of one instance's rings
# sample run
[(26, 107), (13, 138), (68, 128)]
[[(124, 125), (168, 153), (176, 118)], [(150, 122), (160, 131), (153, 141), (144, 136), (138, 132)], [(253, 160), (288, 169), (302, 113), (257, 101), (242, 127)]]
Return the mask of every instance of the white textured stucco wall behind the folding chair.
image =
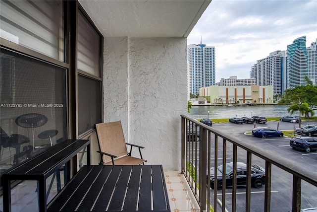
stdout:
[(105, 122), (121, 120), (126, 141), (145, 146), (147, 164), (165, 170), (180, 170), (186, 45), (185, 38), (105, 39)]

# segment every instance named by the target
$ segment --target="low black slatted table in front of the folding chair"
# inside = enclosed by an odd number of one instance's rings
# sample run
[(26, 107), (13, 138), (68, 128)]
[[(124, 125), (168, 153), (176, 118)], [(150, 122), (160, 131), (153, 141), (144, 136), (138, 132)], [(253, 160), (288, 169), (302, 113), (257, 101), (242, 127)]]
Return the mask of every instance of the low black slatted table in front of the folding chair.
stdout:
[(83, 166), (48, 212), (170, 212), (161, 165)]

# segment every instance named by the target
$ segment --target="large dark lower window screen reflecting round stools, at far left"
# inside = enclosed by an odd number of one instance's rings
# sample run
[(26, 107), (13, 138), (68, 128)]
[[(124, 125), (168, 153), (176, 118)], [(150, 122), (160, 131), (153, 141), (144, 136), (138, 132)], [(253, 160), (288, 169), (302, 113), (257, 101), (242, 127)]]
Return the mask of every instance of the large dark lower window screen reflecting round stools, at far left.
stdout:
[(66, 70), (0, 49), (1, 173), (67, 138)]

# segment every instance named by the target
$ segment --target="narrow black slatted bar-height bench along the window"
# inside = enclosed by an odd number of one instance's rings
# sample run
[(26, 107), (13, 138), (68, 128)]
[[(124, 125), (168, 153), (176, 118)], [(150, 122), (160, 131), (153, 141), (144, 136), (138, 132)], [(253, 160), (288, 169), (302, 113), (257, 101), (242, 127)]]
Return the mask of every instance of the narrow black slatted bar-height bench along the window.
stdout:
[(39, 211), (46, 212), (46, 179), (59, 171), (60, 167), (86, 146), (87, 164), (90, 165), (90, 141), (66, 140), (3, 174), (1, 178), (1, 185), (3, 186), (3, 210), (11, 212), (11, 181), (36, 180), (38, 181)]

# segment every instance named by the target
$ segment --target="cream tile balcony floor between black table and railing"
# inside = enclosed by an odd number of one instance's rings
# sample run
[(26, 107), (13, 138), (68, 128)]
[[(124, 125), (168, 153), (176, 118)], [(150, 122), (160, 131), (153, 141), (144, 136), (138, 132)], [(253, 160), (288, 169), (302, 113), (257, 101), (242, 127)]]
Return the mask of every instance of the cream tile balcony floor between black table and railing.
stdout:
[(178, 171), (164, 171), (171, 212), (199, 212), (198, 202), (185, 176)]

